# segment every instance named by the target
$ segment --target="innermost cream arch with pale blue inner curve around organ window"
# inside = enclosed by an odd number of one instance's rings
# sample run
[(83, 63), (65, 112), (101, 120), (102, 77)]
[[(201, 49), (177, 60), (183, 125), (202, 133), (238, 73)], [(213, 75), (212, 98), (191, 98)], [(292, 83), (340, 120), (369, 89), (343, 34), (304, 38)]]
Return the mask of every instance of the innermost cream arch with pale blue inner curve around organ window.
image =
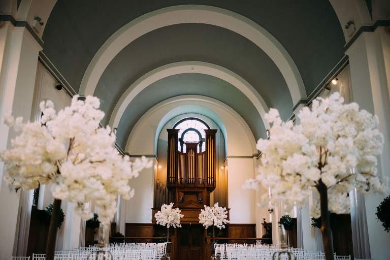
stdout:
[(125, 151), (156, 154), (157, 140), (164, 125), (173, 117), (197, 113), (212, 119), (220, 128), (228, 155), (256, 153), (255, 139), (244, 119), (231, 107), (201, 95), (182, 95), (160, 102), (146, 112), (134, 126)]

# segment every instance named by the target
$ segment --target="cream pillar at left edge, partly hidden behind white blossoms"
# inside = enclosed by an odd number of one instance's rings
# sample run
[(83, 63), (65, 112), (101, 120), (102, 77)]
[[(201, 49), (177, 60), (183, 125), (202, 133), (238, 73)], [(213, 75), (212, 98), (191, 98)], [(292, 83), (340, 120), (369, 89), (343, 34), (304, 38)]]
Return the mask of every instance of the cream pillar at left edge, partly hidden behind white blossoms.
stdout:
[[(9, 26), (9, 27), (8, 27)], [(12, 33), (9, 31), (12, 28)], [(2, 34), (3, 34), (2, 29)], [(1, 100), (0, 115), (3, 117), (7, 113), (15, 116), (30, 118), (32, 96), (34, 93), (34, 83), (37, 70), (38, 53), (41, 46), (23, 27), (13, 27), (12, 24), (6, 26), (5, 48), (3, 48), (1, 67)], [(9, 47), (8, 46), (9, 42)], [(12, 131), (3, 123), (0, 124), (0, 150), (10, 147), (10, 140), (15, 136)], [(7, 184), (3, 180), (4, 165), (0, 166), (0, 208), (2, 212), (2, 222), (0, 230), (0, 259), (9, 259), (13, 254), (14, 240), (17, 230), (18, 208), (20, 193), (10, 192)], [(20, 191), (19, 191), (20, 192)], [(25, 209), (21, 209), (25, 210)], [(28, 232), (24, 234), (28, 237)], [(17, 242), (15, 243), (17, 244)], [(14, 249), (16, 253), (17, 248)]]

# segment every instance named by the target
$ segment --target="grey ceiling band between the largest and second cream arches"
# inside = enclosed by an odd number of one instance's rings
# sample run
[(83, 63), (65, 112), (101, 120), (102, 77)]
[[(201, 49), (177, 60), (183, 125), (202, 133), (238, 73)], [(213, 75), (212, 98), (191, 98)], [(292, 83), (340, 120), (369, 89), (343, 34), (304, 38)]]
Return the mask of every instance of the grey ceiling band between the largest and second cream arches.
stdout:
[[(235, 32), (208, 24), (171, 25), (135, 40), (112, 60), (94, 94), (102, 98), (102, 108), (110, 115), (121, 94), (138, 78), (160, 66), (190, 60), (210, 62), (234, 71), (263, 96), (269, 107), (280, 109), (284, 119), (291, 116), (293, 101), (288, 87), (267, 54)], [(181, 89), (178, 86), (159, 91), (175, 95)], [(203, 94), (208, 95), (207, 89)], [(237, 106), (233, 108), (238, 111)], [(108, 120), (106, 116), (103, 124)]]

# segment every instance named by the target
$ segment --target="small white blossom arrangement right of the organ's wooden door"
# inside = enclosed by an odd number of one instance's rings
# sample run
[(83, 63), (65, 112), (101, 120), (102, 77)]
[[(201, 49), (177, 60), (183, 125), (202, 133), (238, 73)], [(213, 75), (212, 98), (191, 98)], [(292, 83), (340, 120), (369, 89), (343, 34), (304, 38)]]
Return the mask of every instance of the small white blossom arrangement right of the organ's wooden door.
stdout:
[(229, 223), (226, 218), (228, 218), (228, 210), (215, 203), (213, 207), (205, 205), (205, 209), (201, 209), (199, 223), (203, 224), (206, 229), (211, 225), (215, 225), (218, 229), (224, 229), (224, 224)]

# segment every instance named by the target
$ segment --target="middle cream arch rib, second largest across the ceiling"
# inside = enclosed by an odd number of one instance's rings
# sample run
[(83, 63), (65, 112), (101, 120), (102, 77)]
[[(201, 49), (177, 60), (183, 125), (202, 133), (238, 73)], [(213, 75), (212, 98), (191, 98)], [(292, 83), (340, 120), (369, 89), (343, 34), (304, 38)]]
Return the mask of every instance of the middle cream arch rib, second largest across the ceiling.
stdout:
[(237, 87), (252, 102), (253, 106), (257, 109), (259, 115), (262, 117), (266, 129), (269, 129), (270, 126), (267, 120), (264, 118), (265, 113), (267, 113), (269, 110), (268, 106), (263, 100), (262, 96), (253, 88), (253, 86), (251, 86), (239, 75), (228, 69), (201, 61), (183, 61), (167, 64), (166, 66), (157, 68), (139, 78), (121, 95), (110, 116), (109, 125), (112, 127), (117, 127), (126, 107), (132, 102), (137, 94), (139, 94), (143, 89), (147, 88), (150, 84), (172, 75), (184, 73), (200, 73), (214, 76)]

